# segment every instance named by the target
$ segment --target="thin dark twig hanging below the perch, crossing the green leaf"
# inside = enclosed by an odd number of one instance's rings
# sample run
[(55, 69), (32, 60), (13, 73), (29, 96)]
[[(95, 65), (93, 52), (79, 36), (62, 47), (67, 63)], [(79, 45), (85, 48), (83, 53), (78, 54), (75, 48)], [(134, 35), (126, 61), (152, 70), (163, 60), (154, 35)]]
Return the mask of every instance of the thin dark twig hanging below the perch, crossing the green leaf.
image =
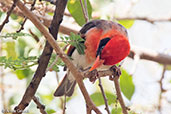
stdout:
[(104, 92), (104, 89), (103, 89), (103, 86), (102, 86), (102, 82), (101, 82), (101, 79), (99, 77), (99, 87), (100, 87), (100, 90), (102, 92), (102, 96), (103, 96), (103, 99), (104, 99), (104, 102), (105, 102), (105, 110), (107, 111), (108, 114), (110, 114), (110, 110), (109, 110), (109, 105), (108, 105), (108, 100), (107, 100), (107, 97), (105, 95), (105, 92)]

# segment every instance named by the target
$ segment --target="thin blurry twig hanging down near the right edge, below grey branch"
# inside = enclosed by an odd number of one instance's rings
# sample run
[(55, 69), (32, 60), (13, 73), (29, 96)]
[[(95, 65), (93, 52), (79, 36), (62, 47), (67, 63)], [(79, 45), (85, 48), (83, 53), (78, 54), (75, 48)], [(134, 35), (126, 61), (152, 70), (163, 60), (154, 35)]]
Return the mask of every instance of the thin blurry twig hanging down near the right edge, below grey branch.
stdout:
[(160, 94), (159, 94), (159, 103), (158, 103), (158, 111), (160, 114), (162, 114), (161, 112), (161, 102), (162, 102), (162, 94), (163, 92), (165, 92), (166, 90), (163, 88), (163, 79), (164, 79), (164, 75), (166, 72), (166, 65), (163, 66), (163, 71), (162, 71), (162, 76), (159, 80), (159, 84), (160, 84)]

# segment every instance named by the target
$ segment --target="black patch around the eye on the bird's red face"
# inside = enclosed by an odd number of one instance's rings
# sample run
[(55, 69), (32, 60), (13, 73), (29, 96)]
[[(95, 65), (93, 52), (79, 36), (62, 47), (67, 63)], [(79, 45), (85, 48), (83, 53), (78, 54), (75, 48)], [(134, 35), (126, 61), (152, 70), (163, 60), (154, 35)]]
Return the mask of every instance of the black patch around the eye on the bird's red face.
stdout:
[(109, 40), (110, 40), (109, 37), (103, 38), (102, 40), (100, 40), (100, 43), (99, 43), (99, 46), (98, 46), (98, 49), (97, 49), (97, 52), (96, 52), (96, 57), (101, 54), (103, 48), (109, 42)]

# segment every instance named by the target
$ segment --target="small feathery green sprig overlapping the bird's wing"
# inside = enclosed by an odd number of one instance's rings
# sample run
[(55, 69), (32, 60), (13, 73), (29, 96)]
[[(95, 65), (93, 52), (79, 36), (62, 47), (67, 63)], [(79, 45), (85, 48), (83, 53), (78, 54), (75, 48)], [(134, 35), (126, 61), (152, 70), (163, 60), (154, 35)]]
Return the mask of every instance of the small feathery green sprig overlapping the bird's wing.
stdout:
[(69, 43), (72, 46), (76, 47), (79, 54), (84, 54), (84, 39), (80, 37), (80, 35), (76, 35), (74, 33), (71, 33), (69, 37), (61, 37), (61, 39), (65, 43)]

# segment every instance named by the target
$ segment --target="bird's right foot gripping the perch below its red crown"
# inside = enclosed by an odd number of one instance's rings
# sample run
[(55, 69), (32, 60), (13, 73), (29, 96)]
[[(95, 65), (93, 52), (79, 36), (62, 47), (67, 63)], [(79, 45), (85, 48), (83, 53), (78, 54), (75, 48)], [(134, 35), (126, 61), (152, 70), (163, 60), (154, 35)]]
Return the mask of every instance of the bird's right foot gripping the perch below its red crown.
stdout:
[(115, 76), (119, 77), (121, 75), (120, 67), (117, 67), (117, 66), (114, 65), (114, 66), (110, 67), (110, 70), (113, 72), (113, 75), (109, 76), (110, 80), (114, 80)]

